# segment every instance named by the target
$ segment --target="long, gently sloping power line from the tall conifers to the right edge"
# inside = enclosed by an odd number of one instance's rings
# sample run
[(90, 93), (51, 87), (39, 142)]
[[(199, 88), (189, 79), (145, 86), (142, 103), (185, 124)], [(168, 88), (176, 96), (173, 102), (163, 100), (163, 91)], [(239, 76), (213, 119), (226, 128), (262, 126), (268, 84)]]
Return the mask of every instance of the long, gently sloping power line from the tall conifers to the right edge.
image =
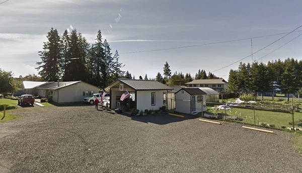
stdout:
[[(301, 32), (301, 31), (302, 30), (298, 30), (298, 31), (295, 31), (295, 32)], [(277, 33), (277, 34), (264, 35), (264, 36), (241, 38), (241, 39), (227, 40), (227, 41), (218, 41), (218, 42), (214, 42), (214, 43), (195, 44), (195, 45), (189, 45), (189, 46), (171, 47), (171, 48), (164, 48), (164, 49), (140, 50), (140, 51), (133, 51), (133, 52), (124, 52), (124, 53), (120, 53), (120, 54), (141, 53), (141, 52), (156, 52), (156, 51), (181, 49), (181, 48), (189, 48), (189, 47), (196, 47), (196, 46), (206, 46), (206, 45), (212, 45), (212, 44), (229, 43), (229, 42), (234, 42), (234, 41), (250, 40), (250, 39), (255, 39), (255, 38), (263, 38), (263, 37), (277, 36), (277, 35), (283, 35), (283, 34), (289, 34), (289, 33), (288, 32), (286, 32), (286, 33)]]

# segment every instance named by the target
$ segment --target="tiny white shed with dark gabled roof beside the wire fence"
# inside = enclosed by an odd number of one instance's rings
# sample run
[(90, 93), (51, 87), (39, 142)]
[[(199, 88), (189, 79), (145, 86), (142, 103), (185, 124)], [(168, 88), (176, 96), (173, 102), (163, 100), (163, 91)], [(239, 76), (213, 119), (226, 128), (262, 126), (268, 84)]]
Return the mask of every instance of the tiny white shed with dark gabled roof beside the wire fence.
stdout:
[(195, 114), (206, 111), (206, 93), (199, 88), (182, 88), (175, 93), (176, 112)]

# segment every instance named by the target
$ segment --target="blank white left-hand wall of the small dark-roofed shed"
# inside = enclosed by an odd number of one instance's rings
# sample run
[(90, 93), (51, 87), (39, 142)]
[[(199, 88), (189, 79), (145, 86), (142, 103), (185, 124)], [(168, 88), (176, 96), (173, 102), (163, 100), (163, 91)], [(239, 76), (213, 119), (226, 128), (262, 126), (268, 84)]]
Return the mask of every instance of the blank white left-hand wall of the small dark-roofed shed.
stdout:
[(175, 95), (175, 106), (176, 106), (176, 111), (185, 113), (185, 114), (190, 114), (191, 111), (191, 95), (189, 95), (186, 91), (182, 94), (182, 91), (179, 91)]

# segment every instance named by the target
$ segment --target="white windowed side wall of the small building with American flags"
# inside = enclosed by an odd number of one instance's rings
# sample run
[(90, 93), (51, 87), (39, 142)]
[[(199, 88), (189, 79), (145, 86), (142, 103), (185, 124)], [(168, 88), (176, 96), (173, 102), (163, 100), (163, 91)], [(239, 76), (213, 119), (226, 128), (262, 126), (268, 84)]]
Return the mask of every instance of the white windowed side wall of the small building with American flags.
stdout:
[[(151, 90), (151, 91), (137, 91), (137, 109), (144, 110), (159, 110), (163, 107), (163, 93), (167, 90)], [(155, 106), (151, 105), (151, 93), (155, 93)]]

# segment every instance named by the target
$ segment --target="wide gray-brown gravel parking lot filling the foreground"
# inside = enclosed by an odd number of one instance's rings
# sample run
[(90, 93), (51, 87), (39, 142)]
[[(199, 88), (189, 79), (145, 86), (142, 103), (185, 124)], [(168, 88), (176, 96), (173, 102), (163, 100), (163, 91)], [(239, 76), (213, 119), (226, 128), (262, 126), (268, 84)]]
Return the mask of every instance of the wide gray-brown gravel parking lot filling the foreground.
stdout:
[(21, 119), (0, 124), (0, 172), (301, 171), (287, 132), (93, 106), (20, 109), (13, 114)]

